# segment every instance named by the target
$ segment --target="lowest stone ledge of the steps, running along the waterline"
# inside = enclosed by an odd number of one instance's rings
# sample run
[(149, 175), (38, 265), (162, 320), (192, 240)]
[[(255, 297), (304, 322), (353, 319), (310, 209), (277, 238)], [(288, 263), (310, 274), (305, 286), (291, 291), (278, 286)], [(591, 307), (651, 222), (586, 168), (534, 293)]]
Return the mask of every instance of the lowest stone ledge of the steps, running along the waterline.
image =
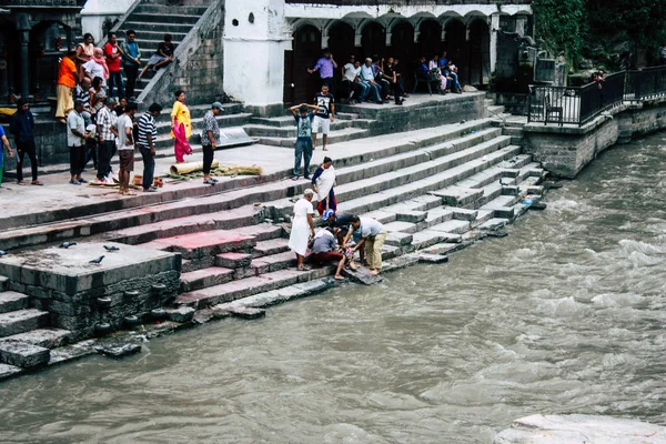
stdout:
[[(549, 190), (544, 189), (542, 199), (545, 198), (547, 191)], [(529, 208), (525, 206), (523, 211), (516, 212), (511, 220), (506, 221), (506, 224), (513, 224), (528, 210)], [(402, 270), (417, 263), (445, 263), (448, 261), (448, 255), (452, 253), (458, 253), (486, 238), (502, 238), (505, 235), (506, 233), (502, 228), (496, 231), (474, 229), (463, 234), (456, 246), (448, 250), (445, 254), (441, 254), (441, 258), (437, 261), (432, 261), (432, 256), (436, 256), (437, 254), (428, 254), (427, 249), (420, 250), (385, 261), (382, 274)], [(157, 311), (152, 316), (153, 320), (151, 323), (140, 324), (133, 330), (122, 330), (108, 336), (87, 339), (73, 344), (56, 347), (51, 351), (51, 360), (46, 366), (37, 369), (18, 369), (0, 364), (0, 383), (21, 375), (42, 372), (94, 354), (102, 354), (111, 359), (122, 359), (127, 355), (141, 352), (141, 345), (152, 339), (174, 334), (175, 332), (186, 329), (202, 326), (212, 321), (231, 317), (242, 320), (261, 319), (265, 316), (265, 309), (270, 306), (314, 296), (327, 290), (342, 287), (349, 284), (353, 284), (353, 282), (350, 280), (336, 281), (331, 276), (326, 276), (242, 297), (212, 307), (200, 310), (189, 309), (185, 311), (174, 310), (171, 313), (164, 310)]]

